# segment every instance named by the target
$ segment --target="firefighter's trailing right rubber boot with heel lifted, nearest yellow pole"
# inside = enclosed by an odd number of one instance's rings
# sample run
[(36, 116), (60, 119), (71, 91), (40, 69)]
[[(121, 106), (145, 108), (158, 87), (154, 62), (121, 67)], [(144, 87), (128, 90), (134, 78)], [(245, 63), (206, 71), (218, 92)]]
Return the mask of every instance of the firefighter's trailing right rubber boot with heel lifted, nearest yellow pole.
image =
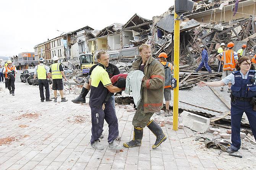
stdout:
[(166, 140), (166, 135), (164, 134), (163, 130), (161, 129), (161, 127), (153, 120), (151, 120), (148, 124), (147, 127), (149, 128), (149, 130), (151, 130), (151, 132), (154, 133), (154, 135), (156, 136), (156, 142), (155, 144), (152, 146), (153, 149), (157, 148), (162, 142), (164, 142)]

